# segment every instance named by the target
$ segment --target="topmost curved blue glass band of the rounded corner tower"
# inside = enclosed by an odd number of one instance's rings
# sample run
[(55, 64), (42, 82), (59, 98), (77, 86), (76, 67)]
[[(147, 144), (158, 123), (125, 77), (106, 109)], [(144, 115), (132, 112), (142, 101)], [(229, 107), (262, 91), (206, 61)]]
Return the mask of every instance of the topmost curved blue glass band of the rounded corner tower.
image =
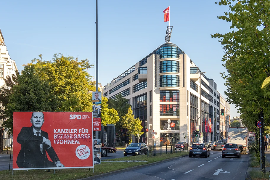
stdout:
[(178, 58), (179, 54), (183, 54), (183, 51), (177, 46), (163, 46), (156, 51), (156, 54), (161, 58)]

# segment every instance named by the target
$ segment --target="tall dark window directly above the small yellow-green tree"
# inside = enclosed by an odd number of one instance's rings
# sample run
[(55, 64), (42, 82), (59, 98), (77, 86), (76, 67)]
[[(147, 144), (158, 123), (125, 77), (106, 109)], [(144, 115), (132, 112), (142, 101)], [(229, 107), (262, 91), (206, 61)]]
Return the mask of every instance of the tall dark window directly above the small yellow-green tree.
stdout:
[(140, 120), (147, 119), (147, 94), (142, 94), (133, 98), (134, 118)]

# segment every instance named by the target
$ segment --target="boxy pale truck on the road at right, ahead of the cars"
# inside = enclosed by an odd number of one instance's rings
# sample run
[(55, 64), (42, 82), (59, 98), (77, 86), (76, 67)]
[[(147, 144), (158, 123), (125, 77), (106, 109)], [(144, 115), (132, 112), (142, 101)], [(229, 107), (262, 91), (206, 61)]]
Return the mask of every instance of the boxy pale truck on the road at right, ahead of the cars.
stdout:
[(238, 144), (241, 153), (247, 153), (248, 147), (248, 128), (244, 127), (229, 127), (228, 128), (228, 143)]

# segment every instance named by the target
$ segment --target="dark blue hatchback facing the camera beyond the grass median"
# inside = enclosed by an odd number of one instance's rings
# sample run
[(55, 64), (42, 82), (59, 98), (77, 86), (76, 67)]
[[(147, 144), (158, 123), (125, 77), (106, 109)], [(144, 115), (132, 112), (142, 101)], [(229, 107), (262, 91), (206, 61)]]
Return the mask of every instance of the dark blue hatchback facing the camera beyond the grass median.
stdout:
[(144, 143), (131, 143), (124, 150), (124, 156), (147, 154), (147, 146)]

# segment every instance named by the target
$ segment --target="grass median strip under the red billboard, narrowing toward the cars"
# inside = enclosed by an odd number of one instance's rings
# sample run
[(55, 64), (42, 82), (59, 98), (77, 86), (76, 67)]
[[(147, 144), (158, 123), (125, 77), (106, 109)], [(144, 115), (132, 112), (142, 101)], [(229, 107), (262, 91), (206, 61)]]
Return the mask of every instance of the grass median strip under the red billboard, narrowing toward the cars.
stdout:
[(61, 169), (55, 170), (55, 174), (53, 174), (53, 170), (50, 172), (45, 170), (28, 170), (28, 171), (14, 171), (14, 176), (12, 176), (12, 171), (8, 172), (8, 170), (0, 171), (0, 177), (1, 179), (5, 180), (36, 180), (36, 179), (42, 179), (42, 180), (75, 180), (75, 179), (81, 179), (86, 178), (89, 176), (95, 176), (98, 174), (113, 172), (122, 170), (125, 168), (131, 168), (138, 165), (145, 165), (150, 163), (155, 163), (158, 161), (170, 159), (173, 157), (180, 157), (182, 155), (188, 155), (189, 152), (181, 152), (181, 153), (173, 153), (173, 154), (165, 154), (163, 153), (161, 156), (160, 154), (156, 154), (156, 156), (149, 156), (147, 155), (140, 155), (140, 156), (127, 156), (127, 157), (121, 157), (121, 158), (115, 158), (111, 159), (113, 161), (118, 160), (147, 160), (147, 162), (102, 162), (101, 164), (94, 165), (94, 173), (93, 169)]

